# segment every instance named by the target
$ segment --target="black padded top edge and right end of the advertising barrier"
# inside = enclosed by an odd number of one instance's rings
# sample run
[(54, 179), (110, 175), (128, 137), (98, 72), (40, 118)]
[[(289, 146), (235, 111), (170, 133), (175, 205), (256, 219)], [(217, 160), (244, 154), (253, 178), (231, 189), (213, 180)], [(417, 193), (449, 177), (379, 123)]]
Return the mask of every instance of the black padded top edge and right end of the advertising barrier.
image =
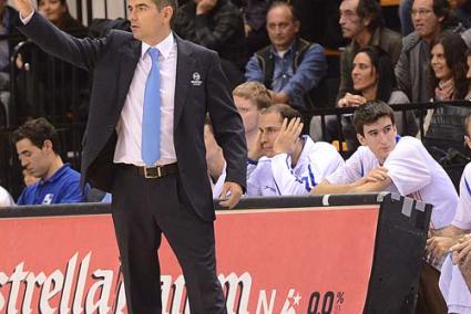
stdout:
[[(380, 209), (364, 313), (413, 313), (432, 206), (383, 192), (244, 198), (233, 210), (367, 205), (379, 205)], [(215, 207), (227, 210), (216, 200)], [(25, 206), (0, 210), (0, 219), (109, 213), (111, 208), (105, 203)], [(345, 260), (348, 262), (348, 250)]]

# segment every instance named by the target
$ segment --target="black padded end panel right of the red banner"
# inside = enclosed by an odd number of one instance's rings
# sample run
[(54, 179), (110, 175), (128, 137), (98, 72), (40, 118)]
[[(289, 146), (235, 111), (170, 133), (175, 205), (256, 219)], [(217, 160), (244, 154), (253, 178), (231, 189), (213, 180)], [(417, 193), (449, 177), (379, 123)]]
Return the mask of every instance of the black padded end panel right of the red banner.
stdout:
[(364, 313), (413, 313), (432, 206), (412, 203), (402, 213), (403, 197), (385, 197), (378, 218), (373, 263)]

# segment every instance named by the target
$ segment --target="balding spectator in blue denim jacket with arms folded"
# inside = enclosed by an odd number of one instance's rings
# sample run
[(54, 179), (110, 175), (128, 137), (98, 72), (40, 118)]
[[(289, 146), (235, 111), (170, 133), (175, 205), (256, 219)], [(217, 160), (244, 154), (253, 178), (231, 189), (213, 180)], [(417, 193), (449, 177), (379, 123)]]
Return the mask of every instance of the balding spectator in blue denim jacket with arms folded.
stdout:
[(327, 62), (322, 46), (298, 38), (299, 27), (291, 6), (274, 2), (267, 13), (272, 44), (250, 57), (245, 77), (270, 90), (274, 103), (306, 111), (316, 102), (313, 93), (327, 73)]

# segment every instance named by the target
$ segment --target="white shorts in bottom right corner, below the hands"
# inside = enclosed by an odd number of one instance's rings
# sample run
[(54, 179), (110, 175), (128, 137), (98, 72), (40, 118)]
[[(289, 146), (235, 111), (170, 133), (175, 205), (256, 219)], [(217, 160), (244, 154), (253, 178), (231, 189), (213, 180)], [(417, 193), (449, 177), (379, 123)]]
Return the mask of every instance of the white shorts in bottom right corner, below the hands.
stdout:
[(471, 314), (471, 293), (460, 269), (453, 265), (451, 254), (441, 268), (439, 286), (447, 302), (448, 313)]

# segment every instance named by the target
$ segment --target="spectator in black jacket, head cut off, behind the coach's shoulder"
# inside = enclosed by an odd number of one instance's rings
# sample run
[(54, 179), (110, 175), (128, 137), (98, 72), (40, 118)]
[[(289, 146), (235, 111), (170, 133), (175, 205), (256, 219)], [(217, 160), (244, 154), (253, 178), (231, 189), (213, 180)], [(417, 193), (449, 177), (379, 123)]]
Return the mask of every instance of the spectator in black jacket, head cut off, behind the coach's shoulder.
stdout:
[(244, 22), (229, 0), (188, 1), (176, 11), (173, 30), (185, 40), (217, 51), (233, 87), (244, 82)]

